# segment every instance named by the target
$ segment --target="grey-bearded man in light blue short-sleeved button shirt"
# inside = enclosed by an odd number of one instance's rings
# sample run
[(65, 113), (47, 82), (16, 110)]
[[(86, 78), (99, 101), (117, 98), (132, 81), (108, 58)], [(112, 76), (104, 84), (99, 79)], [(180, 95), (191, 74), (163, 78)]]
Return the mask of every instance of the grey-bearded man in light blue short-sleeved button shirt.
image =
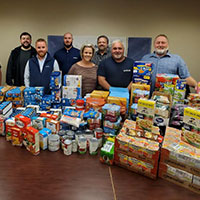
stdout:
[(151, 92), (153, 92), (155, 88), (157, 73), (176, 74), (181, 79), (185, 79), (187, 85), (191, 87), (196, 87), (197, 82), (190, 76), (184, 60), (178, 55), (169, 53), (168, 49), (168, 37), (164, 34), (159, 34), (154, 39), (154, 52), (152, 54), (145, 55), (141, 59), (143, 61), (150, 61), (154, 64), (153, 74), (151, 78)]

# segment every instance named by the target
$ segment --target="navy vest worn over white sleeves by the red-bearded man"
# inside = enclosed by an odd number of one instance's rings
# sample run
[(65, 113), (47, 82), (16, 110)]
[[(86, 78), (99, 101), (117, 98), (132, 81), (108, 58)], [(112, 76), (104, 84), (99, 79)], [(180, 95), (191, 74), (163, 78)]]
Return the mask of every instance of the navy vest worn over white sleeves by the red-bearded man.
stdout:
[(30, 87), (42, 86), (45, 94), (50, 92), (49, 83), (54, 69), (54, 61), (55, 59), (48, 53), (41, 73), (38, 59), (36, 57), (29, 59)]

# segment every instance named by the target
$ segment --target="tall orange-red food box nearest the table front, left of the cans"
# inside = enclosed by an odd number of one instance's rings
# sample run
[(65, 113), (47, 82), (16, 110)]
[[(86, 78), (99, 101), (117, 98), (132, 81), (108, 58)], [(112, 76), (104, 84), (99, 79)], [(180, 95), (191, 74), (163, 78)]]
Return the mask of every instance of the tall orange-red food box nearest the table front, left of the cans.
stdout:
[(23, 144), (33, 155), (40, 153), (39, 131), (32, 126), (26, 128)]

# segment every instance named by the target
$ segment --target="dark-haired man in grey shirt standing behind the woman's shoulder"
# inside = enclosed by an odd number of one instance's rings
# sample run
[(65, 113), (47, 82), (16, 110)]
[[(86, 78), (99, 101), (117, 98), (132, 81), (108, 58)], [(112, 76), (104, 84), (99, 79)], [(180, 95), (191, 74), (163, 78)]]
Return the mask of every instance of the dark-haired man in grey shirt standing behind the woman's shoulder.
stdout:
[(95, 52), (95, 54), (94, 54), (94, 56), (92, 58), (92, 62), (94, 64), (99, 65), (99, 63), (103, 59), (106, 59), (106, 58), (111, 56), (111, 52), (109, 50), (108, 44), (109, 44), (109, 39), (108, 39), (107, 36), (100, 35), (97, 38), (98, 50)]

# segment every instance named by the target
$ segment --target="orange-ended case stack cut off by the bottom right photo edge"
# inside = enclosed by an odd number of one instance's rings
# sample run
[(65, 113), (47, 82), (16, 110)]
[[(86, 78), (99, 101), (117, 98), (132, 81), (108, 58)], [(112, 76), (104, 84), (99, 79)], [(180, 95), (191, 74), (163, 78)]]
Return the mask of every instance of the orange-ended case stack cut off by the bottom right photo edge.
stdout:
[(178, 129), (166, 129), (159, 177), (200, 194), (200, 149), (182, 141)]

